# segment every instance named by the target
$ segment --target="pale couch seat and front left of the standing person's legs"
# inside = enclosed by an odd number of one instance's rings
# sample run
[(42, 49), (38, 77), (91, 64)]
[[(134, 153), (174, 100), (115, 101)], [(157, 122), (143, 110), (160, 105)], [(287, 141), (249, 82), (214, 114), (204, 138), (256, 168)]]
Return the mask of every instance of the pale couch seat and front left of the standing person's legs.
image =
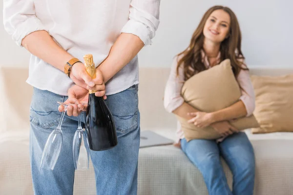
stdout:
[(1, 132), (0, 194), (32, 195), (29, 131)]

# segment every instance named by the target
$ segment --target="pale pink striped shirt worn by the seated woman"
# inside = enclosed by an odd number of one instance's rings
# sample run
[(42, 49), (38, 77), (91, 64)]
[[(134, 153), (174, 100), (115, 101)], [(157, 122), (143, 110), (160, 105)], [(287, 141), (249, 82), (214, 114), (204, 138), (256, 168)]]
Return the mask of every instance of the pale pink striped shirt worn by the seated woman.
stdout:
[[(211, 68), (209, 65), (208, 57), (205, 55), (205, 53), (202, 51), (203, 56), (203, 62), (207, 68)], [(167, 80), (166, 88), (165, 88), (165, 95), (164, 95), (164, 107), (167, 110), (167, 112), (171, 113), (173, 110), (181, 106), (184, 102), (184, 99), (181, 97), (181, 89), (184, 84), (184, 70), (182, 67), (179, 68), (179, 73), (177, 76), (177, 61), (178, 58), (174, 58), (173, 63), (171, 65), (171, 71), (169, 78)], [(217, 57), (217, 64), (220, 63), (220, 53)], [(244, 65), (243, 61), (243, 66)], [(250, 116), (255, 108), (255, 96), (254, 96), (254, 90), (251, 83), (249, 71), (247, 70), (241, 70), (237, 77), (237, 82), (239, 86), (241, 87), (241, 97), (240, 100), (243, 101), (247, 116)], [(181, 130), (180, 123), (177, 121), (177, 141), (184, 138), (183, 131)]]

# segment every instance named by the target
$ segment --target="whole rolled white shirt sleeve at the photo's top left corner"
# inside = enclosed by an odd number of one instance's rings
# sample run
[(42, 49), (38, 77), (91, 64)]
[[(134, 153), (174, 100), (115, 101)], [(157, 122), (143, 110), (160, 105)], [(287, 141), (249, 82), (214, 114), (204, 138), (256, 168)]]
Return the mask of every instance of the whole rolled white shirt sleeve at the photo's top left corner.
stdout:
[(19, 46), (28, 34), (46, 30), (36, 17), (33, 0), (4, 0), (3, 24), (7, 33)]

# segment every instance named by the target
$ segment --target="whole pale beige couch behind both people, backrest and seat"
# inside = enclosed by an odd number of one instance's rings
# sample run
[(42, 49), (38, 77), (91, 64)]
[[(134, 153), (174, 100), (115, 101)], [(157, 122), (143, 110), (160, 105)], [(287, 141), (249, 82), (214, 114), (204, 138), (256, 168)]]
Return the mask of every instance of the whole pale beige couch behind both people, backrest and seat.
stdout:
[[(284, 75), (292, 68), (251, 67), (255, 75)], [(176, 118), (163, 107), (168, 68), (141, 68), (139, 108), (141, 130), (175, 139)], [(32, 195), (29, 166), (29, 106), (32, 87), (28, 70), (0, 67), (0, 195)], [(8, 80), (9, 79), (9, 80)], [(255, 195), (293, 195), (293, 133), (252, 135), (256, 156)], [(231, 186), (232, 176), (224, 170)], [(139, 195), (207, 195), (198, 169), (183, 152), (170, 146), (140, 149)], [(76, 172), (75, 195), (95, 195), (92, 165)]]

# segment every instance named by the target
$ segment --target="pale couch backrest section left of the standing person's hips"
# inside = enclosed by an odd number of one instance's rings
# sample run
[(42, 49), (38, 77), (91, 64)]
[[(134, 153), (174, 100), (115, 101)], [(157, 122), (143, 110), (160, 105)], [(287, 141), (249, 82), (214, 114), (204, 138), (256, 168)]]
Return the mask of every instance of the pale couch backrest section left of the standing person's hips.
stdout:
[(25, 82), (27, 77), (27, 68), (0, 67), (0, 131), (29, 129), (33, 88)]

